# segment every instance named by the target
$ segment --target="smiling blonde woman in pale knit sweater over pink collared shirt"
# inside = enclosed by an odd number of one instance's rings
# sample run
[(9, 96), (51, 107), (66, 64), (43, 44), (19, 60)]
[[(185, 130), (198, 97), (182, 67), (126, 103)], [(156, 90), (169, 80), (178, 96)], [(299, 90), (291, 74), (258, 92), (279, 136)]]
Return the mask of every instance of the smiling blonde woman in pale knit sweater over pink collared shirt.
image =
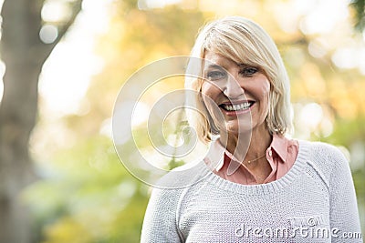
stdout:
[[(187, 78), (218, 137), (190, 187), (152, 192), (141, 242), (362, 242), (349, 164), (336, 147), (291, 140), (289, 83), (273, 40), (231, 16), (198, 35)], [(210, 168), (210, 169), (208, 169)], [(202, 178), (199, 177), (199, 178)]]

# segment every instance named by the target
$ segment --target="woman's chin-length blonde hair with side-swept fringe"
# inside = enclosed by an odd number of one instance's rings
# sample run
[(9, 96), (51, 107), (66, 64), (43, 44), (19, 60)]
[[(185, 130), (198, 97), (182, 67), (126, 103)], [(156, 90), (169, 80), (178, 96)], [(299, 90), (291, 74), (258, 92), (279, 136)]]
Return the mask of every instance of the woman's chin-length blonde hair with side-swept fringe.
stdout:
[(273, 39), (255, 22), (241, 16), (228, 16), (208, 23), (200, 31), (187, 66), (185, 87), (193, 89), (194, 105), (206, 117), (188, 116), (198, 137), (209, 142), (219, 130), (203, 104), (203, 58), (206, 51), (224, 56), (237, 64), (259, 67), (270, 82), (266, 125), (271, 134), (291, 131), (290, 86), (287, 70)]

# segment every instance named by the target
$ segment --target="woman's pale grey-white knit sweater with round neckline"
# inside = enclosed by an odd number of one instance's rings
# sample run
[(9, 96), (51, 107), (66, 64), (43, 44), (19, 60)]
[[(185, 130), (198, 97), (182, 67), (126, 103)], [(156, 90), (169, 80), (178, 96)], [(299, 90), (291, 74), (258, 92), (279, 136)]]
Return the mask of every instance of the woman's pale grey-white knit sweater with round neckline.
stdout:
[(349, 163), (336, 147), (299, 141), (294, 166), (262, 185), (224, 180), (203, 162), (195, 171), (168, 178), (193, 186), (153, 189), (141, 242), (362, 242)]

